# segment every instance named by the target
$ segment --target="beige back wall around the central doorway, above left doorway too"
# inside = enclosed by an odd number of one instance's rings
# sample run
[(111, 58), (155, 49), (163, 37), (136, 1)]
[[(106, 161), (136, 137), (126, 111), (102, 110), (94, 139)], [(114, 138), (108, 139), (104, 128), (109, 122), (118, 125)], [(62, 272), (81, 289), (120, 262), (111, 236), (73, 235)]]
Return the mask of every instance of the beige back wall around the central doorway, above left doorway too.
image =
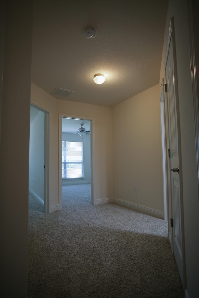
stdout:
[(66, 100), (58, 100), (32, 83), (31, 102), (50, 113), (50, 206), (58, 201), (58, 132), (59, 114), (93, 119), (93, 191), (97, 200), (113, 196), (112, 109)]

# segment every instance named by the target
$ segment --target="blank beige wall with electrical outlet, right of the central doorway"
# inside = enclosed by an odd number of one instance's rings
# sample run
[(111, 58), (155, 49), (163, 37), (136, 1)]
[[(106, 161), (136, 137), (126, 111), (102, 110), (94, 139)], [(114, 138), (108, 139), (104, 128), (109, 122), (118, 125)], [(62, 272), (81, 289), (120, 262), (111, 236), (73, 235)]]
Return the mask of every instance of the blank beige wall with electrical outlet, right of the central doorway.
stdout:
[(113, 196), (163, 216), (159, 91), (156, 85), (113, 107)]

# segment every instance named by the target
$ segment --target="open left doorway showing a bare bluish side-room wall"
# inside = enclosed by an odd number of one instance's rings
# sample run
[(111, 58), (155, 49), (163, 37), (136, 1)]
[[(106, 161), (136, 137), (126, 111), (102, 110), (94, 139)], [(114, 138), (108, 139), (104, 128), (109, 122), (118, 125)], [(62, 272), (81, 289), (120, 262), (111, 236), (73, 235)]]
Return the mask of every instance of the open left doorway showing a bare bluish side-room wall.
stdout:
[[(29, 208), (49, 213), (49, 113), (30, 107)], [(39, 203), (35, 204), (35, 200)], [(31, 204), (32, 201), (32, 204)]]

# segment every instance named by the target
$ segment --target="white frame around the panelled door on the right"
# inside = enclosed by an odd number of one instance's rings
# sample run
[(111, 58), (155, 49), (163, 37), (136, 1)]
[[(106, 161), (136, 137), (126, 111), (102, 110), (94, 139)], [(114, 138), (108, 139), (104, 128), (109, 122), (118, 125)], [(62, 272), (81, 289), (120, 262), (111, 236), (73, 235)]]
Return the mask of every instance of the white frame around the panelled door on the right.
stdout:
[[(174, 34), (174, 17), (171, 18), (170, 26), (169, 26), (169, 34), (168, 34), (168, 41), (167, 41), (167, 49), (165, 54), (165, 62), (164, 62), (164, 80), (166, 78), (166, 63), (167, 57), (169, 52), (169, 45), (172, 39), (173, 43), (173, 62), (174, 62), (174, 88), (175, 88), (175, 97), (176, 97), (176, 121), (177, 121), (177, 134), (178, 134), (178, 157), (179, 157), (179, 183), (180, 183), (180, 214), (181, 214), (181, 237), (182, 237), (182, 267), (183, 267), (183, 287), (186, 288), (186, 265), (185, 265), (185, 237), (184, 237), (184, 213), (183, 213), (183, 179), (182, 179), (182, 155), (181, 155), (181, 139), (180, 139), (180, 118), (179, 118), (179, 99), (178, 99), (178, 80), (177, 80), (177, 59), (176, 59), (176, 50), (175, 50), (175, 34)], [(166, 81), (166, 80), (165, 80)], [(163, 84), (164, 85), (164, 84)], [(168, 152), (168, 144), (169, 144), (169, 124), (168, 124), (168, 111), (165, 107), (165, 128), (166, 128), (166, 144), (165, 150)], [(167, 205), (168, 205), (168, 237), (169, 242), (171, 245), (171, 250), (173, 252), (173, 231), (171, 228), (170, 218), (172, 218), (172, 204), (171, 204), (171, 185), (170, 185), (170, 165), (169, 165), (169, 158), (167, 156), (167, 163), (166, 163), (166, 184), (167, 184)]]

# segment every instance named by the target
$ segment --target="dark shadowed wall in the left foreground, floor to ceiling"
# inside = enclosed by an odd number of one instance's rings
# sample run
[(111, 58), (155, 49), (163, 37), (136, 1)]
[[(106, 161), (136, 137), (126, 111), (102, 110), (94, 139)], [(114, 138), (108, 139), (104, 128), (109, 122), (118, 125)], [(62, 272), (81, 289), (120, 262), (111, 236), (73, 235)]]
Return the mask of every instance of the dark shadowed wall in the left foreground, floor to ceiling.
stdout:
[[(6, 16), (1, 94), (1, 292), (4, 297), (25, 298), (28, 297), (32, 3), (8, 0), (7, 11), (2, 7), (0, 10)], [(2, 35), (0, 38), (3, 42)]]

